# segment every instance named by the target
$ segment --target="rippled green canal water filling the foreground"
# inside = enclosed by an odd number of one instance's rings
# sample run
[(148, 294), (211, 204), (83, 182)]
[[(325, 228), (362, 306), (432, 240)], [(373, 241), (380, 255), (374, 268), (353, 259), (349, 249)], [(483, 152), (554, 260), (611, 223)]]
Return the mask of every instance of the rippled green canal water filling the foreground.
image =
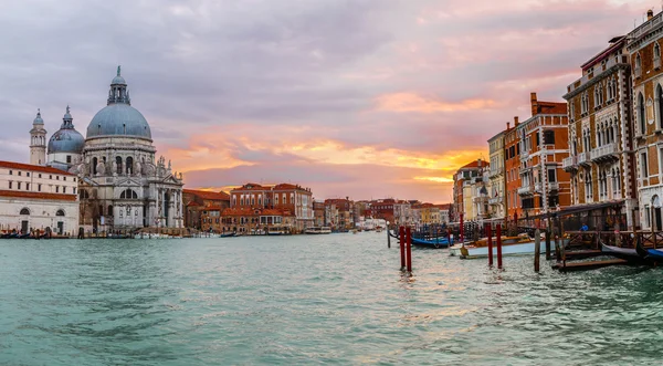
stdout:
[(1, 365), (659, 364), (663, 270), (559, 274), (385, 233), (0, 241)]

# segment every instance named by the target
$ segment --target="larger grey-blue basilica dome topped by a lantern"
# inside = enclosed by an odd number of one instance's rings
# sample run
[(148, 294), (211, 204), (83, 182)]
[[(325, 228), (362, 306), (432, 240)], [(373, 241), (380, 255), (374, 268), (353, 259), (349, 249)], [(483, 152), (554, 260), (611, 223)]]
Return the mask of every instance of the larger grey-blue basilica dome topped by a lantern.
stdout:
[(138, 137), (151, 140), (147, 121), (131, 106), (127, 83), (119, 74), (110, 82), (107, 106), (92, 118), (87, 126), (87, 138), (94, 137)]

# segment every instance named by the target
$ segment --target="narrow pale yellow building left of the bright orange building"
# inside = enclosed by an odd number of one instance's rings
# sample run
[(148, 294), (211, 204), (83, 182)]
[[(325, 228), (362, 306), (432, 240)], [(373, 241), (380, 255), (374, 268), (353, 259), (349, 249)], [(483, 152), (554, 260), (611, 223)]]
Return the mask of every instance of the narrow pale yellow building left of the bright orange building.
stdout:
[(501, 132), (488, 139), (491, 169), (488, 170), (491, 187), (488, 190), (488, 216), (491, 218), (505, 218), (506, 208), (504, 202), (504, 192), (506, 180), (504, 177), (505, 159), (504, 159), (504, 135), (506, 132)]

